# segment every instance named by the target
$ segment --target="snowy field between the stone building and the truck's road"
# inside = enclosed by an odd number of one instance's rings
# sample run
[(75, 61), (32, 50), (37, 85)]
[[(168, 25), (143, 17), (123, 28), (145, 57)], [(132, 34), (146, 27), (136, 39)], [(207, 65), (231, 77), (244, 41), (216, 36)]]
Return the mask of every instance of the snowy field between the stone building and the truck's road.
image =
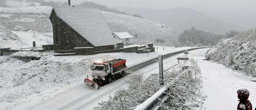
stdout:
[[(157, 57), (159, 54), (189, 48), (169, 48), (148, 54), (109, 53), (98, 55), (53, 56), (44, 53), (39, 60), (23, 62), (0, 56), (0, 105), (3, 108), (38, 103), (83, 83), (90, 75), (90, 64), (97, 59), (127, 59), (127, 65)], [(171, 50), (172, 49), (172, 50)]]

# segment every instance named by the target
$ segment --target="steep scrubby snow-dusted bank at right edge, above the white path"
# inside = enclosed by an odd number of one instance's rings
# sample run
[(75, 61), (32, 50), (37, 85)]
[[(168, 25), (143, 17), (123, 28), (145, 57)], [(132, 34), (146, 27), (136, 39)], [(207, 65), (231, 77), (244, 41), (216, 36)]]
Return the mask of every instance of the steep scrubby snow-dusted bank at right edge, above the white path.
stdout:
[(220, 41), (206, 56), (256, 77), (256, 29)]

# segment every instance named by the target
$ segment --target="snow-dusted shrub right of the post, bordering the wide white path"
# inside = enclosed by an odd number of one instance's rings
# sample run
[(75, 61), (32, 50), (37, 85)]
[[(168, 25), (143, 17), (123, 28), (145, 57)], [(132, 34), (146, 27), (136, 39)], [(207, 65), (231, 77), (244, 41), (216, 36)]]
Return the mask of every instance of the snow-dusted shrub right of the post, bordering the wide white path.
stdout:
[(165, 79), (169, 82), (169, 98), (160, 105), (160, 110), (202, 109), (206, 97), (201, 91), (201, 70), (194, 60), (192, 66), (173, 71)]

